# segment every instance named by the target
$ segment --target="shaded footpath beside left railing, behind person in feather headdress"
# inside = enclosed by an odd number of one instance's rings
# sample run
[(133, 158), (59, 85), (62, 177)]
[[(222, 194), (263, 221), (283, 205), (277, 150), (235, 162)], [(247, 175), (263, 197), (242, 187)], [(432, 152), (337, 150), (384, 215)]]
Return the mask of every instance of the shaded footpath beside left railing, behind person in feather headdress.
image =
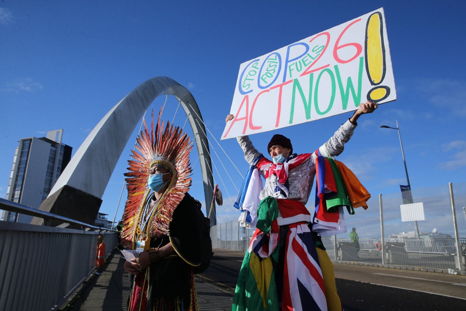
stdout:
[[(71, 310), (119, 311), (126, 310), (130, 279), (123, 269), (124, 259), (115, 250), (107, 259), (102, 275), (95, 276), (73, 303)], [(233, 293), (205, 278), (196, 276), (199, 310), (230, 311)]]

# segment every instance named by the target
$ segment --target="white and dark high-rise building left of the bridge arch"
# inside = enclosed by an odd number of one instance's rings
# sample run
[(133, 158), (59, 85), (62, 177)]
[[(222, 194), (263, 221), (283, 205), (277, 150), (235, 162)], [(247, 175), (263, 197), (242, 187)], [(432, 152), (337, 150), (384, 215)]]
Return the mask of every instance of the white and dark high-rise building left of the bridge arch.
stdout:
[[(62, 144), (63, 129), (47, 137), (22, 138), (14, 152), (7, 200), (39, 208), (71, 159), (72, 147)], [(3, 211), (4, 221), (29, 223), (32, 216)]]

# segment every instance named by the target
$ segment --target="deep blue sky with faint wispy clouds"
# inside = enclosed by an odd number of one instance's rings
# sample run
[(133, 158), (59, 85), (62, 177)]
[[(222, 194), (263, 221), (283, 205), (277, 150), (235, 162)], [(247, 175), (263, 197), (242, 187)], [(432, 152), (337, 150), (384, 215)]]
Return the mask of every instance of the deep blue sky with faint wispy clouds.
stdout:
[[(4, 0), (0, 3), (0, 195), (5, 197), (20, 138), (63, 128), (63, 142), (75, 152), (111, 107), (154, 76), (170, 76), (191, 90), (207, 127), (219, 140), (240, 63), (379, 7), (385, 10), (398, 99), (361, 117), (339, 158), (373, 194), (371, 206), (378, 208), (377, 194), (398, 192), (398, 185), (406, 182), (397, 131), (379, 128), (395, 127), (397, 119), (413, 189), (464, 182), (466, 5), (462, 2)], [(163, 103), (164, 98), (157, 98), (154, 109), (158, 111)], [(177, 104), (169, 97), (166, 119), (173, 118)], [(182, 126), (186, 117), (180, 112), (175, 124)], [(291, 138), (295, 152), (312, 152), (350, 115), (251, 138), (265, 152), (270, 137), (281, 133)], [(239, 187), (240, 174), (209, 138)], [(247, 163), (235, 139), (220, 144), (245, 172)], [(110, 218), (133, 146), (130, 141), (103, 196), (101, 212), (111, 214)], [(214, 171), (215, 180), (226, 197), (226, 190), (234, 197), (233, 183), (211, 151), (220, 172), (219, 176)], [(192, 163), (197, 158), (194, 150)], [(194, 166), (190, 193), (203, 201), (199, 163)], [(117, 218), (125, 199), (123, 193)], [(229, 206), (219, 207), (225, 221), (237, 218)]]

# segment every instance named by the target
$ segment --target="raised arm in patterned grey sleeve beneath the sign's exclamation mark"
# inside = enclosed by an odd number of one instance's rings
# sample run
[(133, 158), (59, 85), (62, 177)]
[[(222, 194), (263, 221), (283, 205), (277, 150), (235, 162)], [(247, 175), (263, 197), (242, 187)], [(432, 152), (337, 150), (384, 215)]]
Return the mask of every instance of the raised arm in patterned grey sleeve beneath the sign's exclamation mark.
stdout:
[(343, 152), (344, 144), (348, 142), (353, 135), (353, 131), (357, 126), (356, 120), (365, 113), (372, 113), (377, 109), (377, 104), (367, 101), (365, 104), (360, 104), (359, 109), (355, 111), (352, 117), (338, 128), (333, 136), (322, 146), (319, 151), (324, 157), (334, 157)]

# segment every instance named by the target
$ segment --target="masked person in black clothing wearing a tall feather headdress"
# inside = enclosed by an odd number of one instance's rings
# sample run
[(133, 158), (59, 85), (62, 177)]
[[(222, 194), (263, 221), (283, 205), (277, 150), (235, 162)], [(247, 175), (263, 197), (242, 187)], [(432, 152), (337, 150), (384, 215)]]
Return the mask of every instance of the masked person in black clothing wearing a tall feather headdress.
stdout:
[(125, 261), (132, 277), (129, 311), (197, 311), (192, 267), (199, 266), (198, 205), (187, 191), (192, 169), (189, 137), (160, 116), (154, 131), (145, 120), (125, 173), (128, 200), (121, 233), (125, 249), (141, 249)]

